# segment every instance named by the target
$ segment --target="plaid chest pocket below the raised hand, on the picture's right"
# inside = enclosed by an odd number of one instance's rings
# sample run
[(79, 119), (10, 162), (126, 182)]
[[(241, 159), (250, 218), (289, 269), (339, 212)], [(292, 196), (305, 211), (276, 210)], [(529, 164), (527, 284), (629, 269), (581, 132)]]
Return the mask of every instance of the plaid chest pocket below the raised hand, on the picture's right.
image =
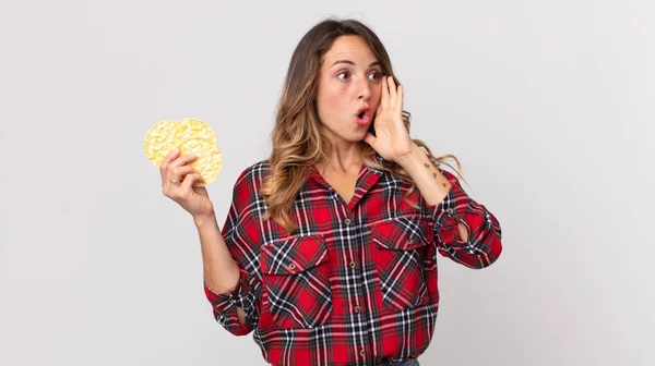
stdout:
[(419, 216), (393, 218), (373, 227), (377, 277), (385, 308), (400, 312), (427, 301), (422, 263), (426, 247), (433, 242), (430, 233), (429, 221)]

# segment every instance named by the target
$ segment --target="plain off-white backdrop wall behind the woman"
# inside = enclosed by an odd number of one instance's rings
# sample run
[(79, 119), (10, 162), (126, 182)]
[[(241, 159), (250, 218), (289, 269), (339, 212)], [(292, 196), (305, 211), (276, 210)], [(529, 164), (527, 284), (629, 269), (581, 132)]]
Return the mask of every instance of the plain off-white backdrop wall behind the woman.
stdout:
[(412, 136), (463, 162), (504, 252), (441, 257), (421, 365), (654, 365), (655, 3), (0, 1), (0, 365), (265, 365), (212, 317), (191, 217), (143, 139), (210, 123), (265, 159), (300, 37), (364, 21)]

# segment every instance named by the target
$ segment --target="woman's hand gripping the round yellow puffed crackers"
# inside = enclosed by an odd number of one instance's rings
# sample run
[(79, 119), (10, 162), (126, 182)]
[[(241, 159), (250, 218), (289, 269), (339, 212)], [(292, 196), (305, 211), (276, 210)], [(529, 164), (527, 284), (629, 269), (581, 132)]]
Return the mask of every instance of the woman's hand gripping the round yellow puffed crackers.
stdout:
[(214, 205), (204, 186), (194, 186), (195, 182), (202, 182), (202, 178), (189, 166), (193, 160), (195, 156), (180, 155), (178, 149), (174, 149), (162, 160), (159, 172), (164, 195), (198, 220), (214, 215)]

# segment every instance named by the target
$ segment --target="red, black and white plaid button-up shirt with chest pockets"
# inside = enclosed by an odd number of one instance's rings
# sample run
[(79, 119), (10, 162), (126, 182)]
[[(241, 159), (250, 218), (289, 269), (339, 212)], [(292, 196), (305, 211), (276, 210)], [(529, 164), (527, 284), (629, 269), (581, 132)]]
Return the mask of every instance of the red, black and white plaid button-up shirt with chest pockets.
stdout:
[[(378, 156), (379, 161), (385, 162)], [(485, 206), (453, 183), (438, 205), (409, 182), (362, 167), (350, 203), (312, 170), (293, 206), (298, 230), (261, 220), (260, 161), (238, 178), (223, 237), (240, 269), (234, 290), (204, 285), (216, 320), (253, 339), (274, 365), (379, 365), (418, 357), (439, 306), (437, 253), (471, 268), (501, 253), (501, 229)], [(463, 241), (457, 223), (468, 229)], [(247, 324), (237, 319), (236, 306)]]

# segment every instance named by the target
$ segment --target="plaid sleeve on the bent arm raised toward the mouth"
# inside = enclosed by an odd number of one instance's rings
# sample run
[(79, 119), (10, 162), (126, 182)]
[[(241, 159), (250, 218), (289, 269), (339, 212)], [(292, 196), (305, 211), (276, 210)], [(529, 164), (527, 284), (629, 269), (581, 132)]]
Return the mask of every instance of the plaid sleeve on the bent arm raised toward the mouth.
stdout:
[[(452, 183), (452, 187), (441, 203), (426, 204), (434, 220), (434, 240), (439, 253), (469, 268), (490, 266), (502, 252), (498, 219), (464, 192), (454, 174), (444, 170), (441, 173)], [(460, 235), (460, 223), (468, 231), (466, 241)]]

